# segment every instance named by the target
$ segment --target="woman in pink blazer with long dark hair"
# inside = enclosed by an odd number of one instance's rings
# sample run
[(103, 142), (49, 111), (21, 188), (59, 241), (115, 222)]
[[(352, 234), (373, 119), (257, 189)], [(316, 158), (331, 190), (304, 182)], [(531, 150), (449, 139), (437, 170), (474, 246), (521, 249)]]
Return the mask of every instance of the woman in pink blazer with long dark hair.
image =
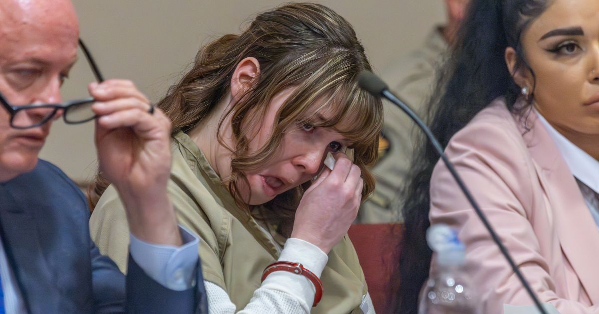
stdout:
[[(460, 38), (433, 132), (540, 300), (599, 313), (599, 1), (475, 0)], [(398, 312), (416, 312), (440, 222), (466, 246), (483, 313), (533, 304), (437, 161), (423, 145), (406, 191)]]

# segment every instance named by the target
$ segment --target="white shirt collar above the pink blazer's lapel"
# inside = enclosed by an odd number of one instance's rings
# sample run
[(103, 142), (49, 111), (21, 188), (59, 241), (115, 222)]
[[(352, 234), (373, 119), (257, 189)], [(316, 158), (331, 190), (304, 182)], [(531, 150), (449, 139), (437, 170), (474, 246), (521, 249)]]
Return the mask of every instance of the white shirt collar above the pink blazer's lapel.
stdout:
[(595, 193), (599, 193), (599, 161), (587, 154), (585, 151), (570, 142), (565, 136), (558, 132), (545, 118), (535, 109), (539, 120), (549, 133), (549, 136), (555, 142), (556, 147), (568, 164), (572, 175), (580, 182), (591, 188)]

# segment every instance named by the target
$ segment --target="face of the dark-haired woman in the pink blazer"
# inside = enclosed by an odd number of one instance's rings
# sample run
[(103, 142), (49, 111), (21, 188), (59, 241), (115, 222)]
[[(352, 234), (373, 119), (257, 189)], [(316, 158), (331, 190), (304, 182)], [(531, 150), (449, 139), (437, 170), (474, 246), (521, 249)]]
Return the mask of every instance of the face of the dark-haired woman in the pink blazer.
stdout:
[(599, 136), (599, 1), (554, 0), (522, 34), (522, 47), (543, 117), (575, 144)]

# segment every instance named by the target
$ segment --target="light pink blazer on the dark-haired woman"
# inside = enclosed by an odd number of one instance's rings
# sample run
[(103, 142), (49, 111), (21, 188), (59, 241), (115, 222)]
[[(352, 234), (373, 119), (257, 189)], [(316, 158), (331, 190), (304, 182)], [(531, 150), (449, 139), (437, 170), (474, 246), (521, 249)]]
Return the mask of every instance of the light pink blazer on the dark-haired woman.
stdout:
[[(512, 115), (495, 100), (453, 136), (446, 154), (541, 301), (564, 314), (599, 313), (599, 228), (537, 115)], [(533, 304), (441, 163), (432, 173), (430, 220), (458, 230), (483, 313)]]

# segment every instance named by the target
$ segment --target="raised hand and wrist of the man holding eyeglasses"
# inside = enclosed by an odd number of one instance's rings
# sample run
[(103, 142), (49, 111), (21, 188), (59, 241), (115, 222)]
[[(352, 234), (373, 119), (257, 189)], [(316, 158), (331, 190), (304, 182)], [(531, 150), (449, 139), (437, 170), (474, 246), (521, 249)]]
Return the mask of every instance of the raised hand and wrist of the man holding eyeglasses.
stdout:
[(155, 109), (131, 81), (89, 85), (96, 99), (96, 147), (102, 175), (123, 200), (129, 228), (138, 239), (181, 245), (177, 220), (167, 196), (171, 169), (170, 120)]

